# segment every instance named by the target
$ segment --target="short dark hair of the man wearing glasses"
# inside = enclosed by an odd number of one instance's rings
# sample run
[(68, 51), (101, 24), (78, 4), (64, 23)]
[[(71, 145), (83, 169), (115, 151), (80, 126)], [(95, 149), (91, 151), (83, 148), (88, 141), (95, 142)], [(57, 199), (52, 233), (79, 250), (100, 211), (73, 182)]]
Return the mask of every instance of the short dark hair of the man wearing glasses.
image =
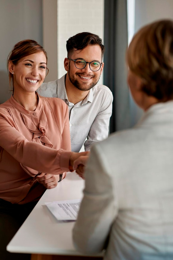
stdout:
[(72, 37), (70, 37), (67, 40), (66, 48), (67, 48), (67, 55), (76, 50), (83, 50), (88, 46), (89, 44), (98, 44), (101, 48), (101, 59), (103, 58), (104, 55), (104, 45), (102, 43), (102, 39), (99, 38), (98, 35), (92, 34), (90, 32), (82, 32), (78, 33)]

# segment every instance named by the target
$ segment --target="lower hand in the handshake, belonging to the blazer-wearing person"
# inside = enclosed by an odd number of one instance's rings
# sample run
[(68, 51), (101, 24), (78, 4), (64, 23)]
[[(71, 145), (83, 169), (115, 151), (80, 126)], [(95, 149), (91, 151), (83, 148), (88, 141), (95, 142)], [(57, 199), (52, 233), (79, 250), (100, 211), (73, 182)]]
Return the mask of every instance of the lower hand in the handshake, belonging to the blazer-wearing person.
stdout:
[(85, 156), (80, 156), (78, 157), (73, 164), (73, 169), (76, 170), (76, 173), (84, 179), (84, 171), (85, 171), (85, 166), (89, 158), (89, 153)]

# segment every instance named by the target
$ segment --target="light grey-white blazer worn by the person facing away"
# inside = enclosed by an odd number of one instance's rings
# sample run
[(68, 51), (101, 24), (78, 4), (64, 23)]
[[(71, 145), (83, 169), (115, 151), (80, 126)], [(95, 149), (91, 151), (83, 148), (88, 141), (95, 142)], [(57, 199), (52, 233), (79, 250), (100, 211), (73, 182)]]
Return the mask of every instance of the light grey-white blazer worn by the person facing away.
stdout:
[(97, 143), (73, 230), (83, 252), (105, 260), (173, 259), (173, 101)]

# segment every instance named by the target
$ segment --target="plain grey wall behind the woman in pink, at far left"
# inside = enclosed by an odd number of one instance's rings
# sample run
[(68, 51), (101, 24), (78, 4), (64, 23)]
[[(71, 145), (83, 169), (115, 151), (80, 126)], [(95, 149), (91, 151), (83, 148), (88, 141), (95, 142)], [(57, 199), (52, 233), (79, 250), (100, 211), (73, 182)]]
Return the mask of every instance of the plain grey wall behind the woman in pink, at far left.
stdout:
[(6, 60), (14, 44), (42, 44), (42, 0), (0, 0), (0, 103), (10, 96)]

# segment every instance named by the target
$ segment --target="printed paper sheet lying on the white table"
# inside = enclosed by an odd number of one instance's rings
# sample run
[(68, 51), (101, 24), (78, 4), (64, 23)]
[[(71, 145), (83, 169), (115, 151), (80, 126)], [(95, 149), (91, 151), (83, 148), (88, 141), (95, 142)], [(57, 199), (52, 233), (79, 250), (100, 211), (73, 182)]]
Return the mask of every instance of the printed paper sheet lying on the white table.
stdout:
[(57, 220), (76, 220), (81, 199), (45, 202)]

